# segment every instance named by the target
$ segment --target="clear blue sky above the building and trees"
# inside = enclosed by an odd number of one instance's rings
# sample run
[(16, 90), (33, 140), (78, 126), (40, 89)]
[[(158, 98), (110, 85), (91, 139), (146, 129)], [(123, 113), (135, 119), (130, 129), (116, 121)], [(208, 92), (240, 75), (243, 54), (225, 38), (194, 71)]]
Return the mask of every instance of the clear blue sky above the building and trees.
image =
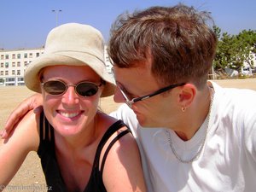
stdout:
[(38, 48), (44, 45), (48, 32), (58, 24), (79, 22), (95, 26), (106, 41), (113, 20), (121, 13), (154, 5), (193, 5), (212, 13), (222, 32), (238, 34), (256, 29), (255, 0), (1, 0), (0, 49)]

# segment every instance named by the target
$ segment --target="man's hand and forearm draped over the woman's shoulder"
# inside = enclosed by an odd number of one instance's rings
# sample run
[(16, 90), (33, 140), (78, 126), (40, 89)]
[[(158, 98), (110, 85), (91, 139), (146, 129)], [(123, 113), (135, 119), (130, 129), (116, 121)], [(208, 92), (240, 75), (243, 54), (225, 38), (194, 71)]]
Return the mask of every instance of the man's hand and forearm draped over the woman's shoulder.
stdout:
[(33, 110), (34, 113), (40, 113), (43, 110), (42, 104), (42, 95), (39, 93), (26, 98), (23, 102), (20, 102), (20, 105), (9, 115), (0, 136), (2, 138), (9, 137), (9, 132), (12, 131), (15, 125), (20, 122), (20, 119), (22, 119), (30, 110)]

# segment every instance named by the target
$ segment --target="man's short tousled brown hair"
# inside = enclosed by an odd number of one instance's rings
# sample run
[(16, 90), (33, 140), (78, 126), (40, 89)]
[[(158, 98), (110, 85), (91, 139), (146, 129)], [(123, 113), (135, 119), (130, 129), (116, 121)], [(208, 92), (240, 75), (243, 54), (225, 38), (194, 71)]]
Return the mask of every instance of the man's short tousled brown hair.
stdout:
[[(152, 61), (152, 73), (164, 84), (207, 81), (217, 37), (208, 12), (178, 4), (119, 15), (112, 26), (108, 54), (117, 67)], [(150, 58), (150, 60), (149, 60)]]

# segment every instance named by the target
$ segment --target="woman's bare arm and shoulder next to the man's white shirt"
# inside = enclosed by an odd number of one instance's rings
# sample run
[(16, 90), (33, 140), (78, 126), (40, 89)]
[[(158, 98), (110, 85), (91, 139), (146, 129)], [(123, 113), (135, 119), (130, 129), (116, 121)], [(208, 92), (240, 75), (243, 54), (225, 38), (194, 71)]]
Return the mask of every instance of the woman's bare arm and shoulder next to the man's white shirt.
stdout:
[[(113, 134), (109, 141), (115, 136)], [(110, 149), (103, 169), (103, 183), (108, 192), (146, 191), (139, 149), (131, 133), (121, 137)]]

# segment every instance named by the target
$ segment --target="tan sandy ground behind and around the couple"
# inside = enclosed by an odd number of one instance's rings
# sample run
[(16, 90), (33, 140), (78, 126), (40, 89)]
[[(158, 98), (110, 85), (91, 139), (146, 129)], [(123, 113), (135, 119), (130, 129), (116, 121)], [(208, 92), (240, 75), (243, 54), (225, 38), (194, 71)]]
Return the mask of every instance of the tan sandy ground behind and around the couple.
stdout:
[[(229, 79), (215, 80), (224, 87), (236, 87), (256, 90), (256, 79)], [(0, 130), (6, 119), (18, 104), (27, 96), (32, 95), (32, 91), (25, 86), (20, 87), (0, 87)], [(104, 112), (110, 113), (118, 108), (119, 104), (113, 102), (113, 97), (102, 98), (101, 108)], [(0, 170), (1, 174), (1, 170)], [(0, 190), (3, 186), (0, 183)], [(19, 172), (3, 191), (47, 191), (44, 174), (35, 152), (27, 155), (25, 162), (20, 167)]]

